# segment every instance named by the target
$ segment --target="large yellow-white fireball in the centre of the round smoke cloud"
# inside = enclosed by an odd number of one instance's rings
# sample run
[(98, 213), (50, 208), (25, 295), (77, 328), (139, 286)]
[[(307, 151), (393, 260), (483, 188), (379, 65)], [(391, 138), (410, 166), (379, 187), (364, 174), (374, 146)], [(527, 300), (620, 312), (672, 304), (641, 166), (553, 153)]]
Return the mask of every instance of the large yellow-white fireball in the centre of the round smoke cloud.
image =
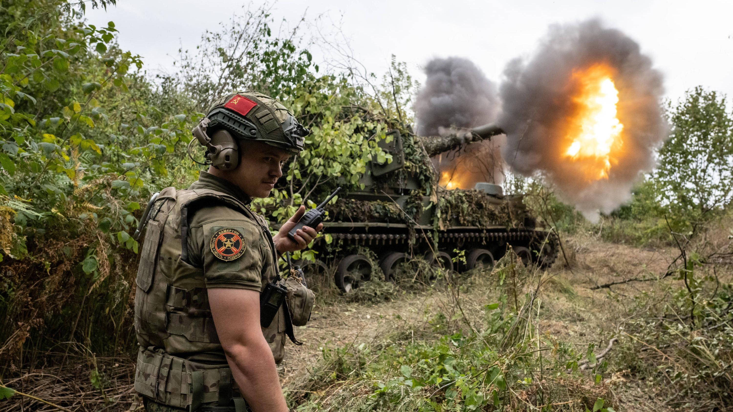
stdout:
[(612, 75), (613, 69), (603, 64), (572, 73), (578, 112), (570, 119), (564, 156), (578, 161), (589, 180), (608, 178), (622, 145), (624, 125), (617, 117), (619, 91)]

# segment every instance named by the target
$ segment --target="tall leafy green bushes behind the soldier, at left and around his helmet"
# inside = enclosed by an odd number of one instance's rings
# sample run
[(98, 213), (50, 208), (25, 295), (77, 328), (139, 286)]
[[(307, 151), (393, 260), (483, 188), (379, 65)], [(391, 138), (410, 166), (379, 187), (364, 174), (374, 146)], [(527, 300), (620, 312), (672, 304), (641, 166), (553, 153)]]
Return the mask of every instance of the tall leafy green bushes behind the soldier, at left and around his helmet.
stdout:
[[(246, 13), (252, 25), (205, 34), (202, 72), (183, 65), (153, 81), (139, 56), (119, 49), (113, 22), (84, 23), (84, 4), (0, 6), (0, 356), (9, 367), (29, 339), (36, 350), (68, 341), (133, 350), (131, 235), (152, 192), (196, 179), (186, 147), (206, 110), (202, 93), (256, 84), (312, 129), (273, 196), (253, 203), (273, 221), (336, 184), (356, 187), (372, 156), (388, 158), (377, 141), (397, 124), (346, 75), (319, 74), (297, 36), (273, 34), (266, 6)], [(257, 48), (229, 65), (239, 34)], [(257, 70), (227, 72), (218, 89), (196, 83), (221, 67)]]

